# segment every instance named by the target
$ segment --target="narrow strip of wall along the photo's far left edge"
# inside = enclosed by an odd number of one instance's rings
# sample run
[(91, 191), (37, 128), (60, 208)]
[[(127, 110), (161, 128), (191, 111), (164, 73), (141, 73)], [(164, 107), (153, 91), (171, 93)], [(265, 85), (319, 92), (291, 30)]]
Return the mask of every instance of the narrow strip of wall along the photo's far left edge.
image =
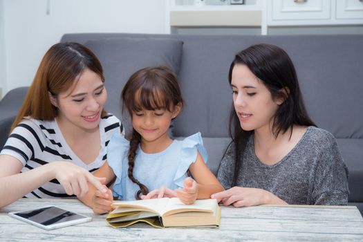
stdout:
[(5, 30), (3, 0), (0, 0), (0, 99), (6, 89)]

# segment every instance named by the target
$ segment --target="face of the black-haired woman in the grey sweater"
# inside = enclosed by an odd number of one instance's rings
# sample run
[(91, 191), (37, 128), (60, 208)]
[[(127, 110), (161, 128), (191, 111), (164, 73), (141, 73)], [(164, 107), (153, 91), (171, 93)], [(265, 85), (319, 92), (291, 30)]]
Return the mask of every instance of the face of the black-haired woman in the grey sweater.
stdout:
[(272, 118), (283, 100), (272, 100), (263, 82), (243, 64), (234, 66), (231, 87), (241, 128), (245, 131), (270, 131)]

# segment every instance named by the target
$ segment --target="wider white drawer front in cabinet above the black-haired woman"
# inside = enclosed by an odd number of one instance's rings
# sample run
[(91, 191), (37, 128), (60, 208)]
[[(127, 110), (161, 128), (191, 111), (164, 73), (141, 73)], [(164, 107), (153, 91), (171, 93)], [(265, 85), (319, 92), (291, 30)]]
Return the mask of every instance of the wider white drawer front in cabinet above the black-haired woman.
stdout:
[(314, 19), (331, 19), (331, 0), (272, 1), (272, 21)]

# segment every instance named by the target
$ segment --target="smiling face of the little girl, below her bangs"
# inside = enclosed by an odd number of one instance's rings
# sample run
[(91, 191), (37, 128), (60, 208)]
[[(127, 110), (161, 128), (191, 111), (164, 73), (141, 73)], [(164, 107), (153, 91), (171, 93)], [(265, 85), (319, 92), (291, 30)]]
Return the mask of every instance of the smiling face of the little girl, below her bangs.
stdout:
[(141, 136), (141, 142), (158, 142), (169, 140), (168, 130), (171, 119), (180, 112), (181, 104), (174, 106), (172, 112), (167, 109), (156, 109), (132, 112), (132, 126)]

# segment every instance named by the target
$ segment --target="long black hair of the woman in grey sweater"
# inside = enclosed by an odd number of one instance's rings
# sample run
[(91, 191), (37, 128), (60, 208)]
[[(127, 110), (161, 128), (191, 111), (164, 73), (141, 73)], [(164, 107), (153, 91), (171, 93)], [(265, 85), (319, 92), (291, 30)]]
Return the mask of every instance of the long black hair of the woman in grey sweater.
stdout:
[[(290, 138), (295, 124), (301, 126), (316, 126), (309, 118), (302, 99), (297, 74), (292, 61), (285, 50), (272, 44), (257, 44), (250, 46), (234, 57), (230, 66), (228, 80), (232, 82), (232, 71), (236, 65), (245, 65), (259, 79), (272, 95), (272, 100), (283, 98), (272, 122), (272, 133), (275, 137), (290, 129)], [(230, 145), (235, 147), (235, 165), (232, 186), (237, 185), (239, 169), (243, 159), (243, 151), (248, 139), (254, 131), (241, 129), (239, 118), (234, 110), (230, 112)]]

